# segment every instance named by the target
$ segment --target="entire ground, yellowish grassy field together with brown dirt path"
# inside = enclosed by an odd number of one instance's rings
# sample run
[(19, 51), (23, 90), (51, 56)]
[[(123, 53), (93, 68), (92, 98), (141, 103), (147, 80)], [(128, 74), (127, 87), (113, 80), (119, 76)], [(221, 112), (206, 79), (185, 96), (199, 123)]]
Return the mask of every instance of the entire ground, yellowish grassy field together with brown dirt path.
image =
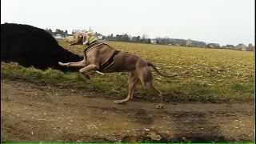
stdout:
[[(76, 54), (81, 46), (60, 45)], [(108, 42), (118, 50), (154, 62), (166, 79), (154, 75), (166, 108), (138, 86), (134, 102), (126, 96), (126, 74), (78, 73), (1, 65), (2, 142), (253, 142), (254, 55)]]

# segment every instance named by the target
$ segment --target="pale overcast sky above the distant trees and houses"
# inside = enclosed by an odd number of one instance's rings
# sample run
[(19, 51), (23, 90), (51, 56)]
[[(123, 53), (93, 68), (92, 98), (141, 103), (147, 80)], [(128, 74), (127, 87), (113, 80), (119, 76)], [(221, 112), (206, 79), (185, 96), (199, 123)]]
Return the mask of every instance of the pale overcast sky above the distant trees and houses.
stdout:
[(1, 0), (1, 23), (254, 43), (254, 0)]

